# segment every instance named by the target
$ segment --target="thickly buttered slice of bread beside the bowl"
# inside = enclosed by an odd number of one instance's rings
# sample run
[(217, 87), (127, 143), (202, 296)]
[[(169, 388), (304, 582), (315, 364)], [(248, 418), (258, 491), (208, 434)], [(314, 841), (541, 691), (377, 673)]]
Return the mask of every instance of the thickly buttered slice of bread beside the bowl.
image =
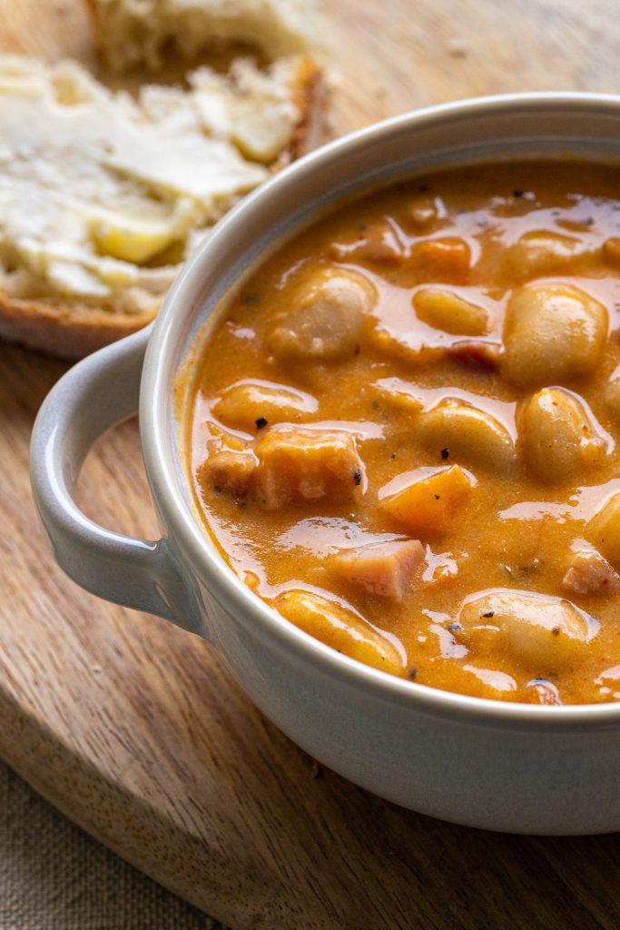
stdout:
[(0, 57), (0, 336), (77, 358), (149, 322), (218, 218), (311, 144), (317, 82), (305, 58), (235, 60), (135, 100)]

